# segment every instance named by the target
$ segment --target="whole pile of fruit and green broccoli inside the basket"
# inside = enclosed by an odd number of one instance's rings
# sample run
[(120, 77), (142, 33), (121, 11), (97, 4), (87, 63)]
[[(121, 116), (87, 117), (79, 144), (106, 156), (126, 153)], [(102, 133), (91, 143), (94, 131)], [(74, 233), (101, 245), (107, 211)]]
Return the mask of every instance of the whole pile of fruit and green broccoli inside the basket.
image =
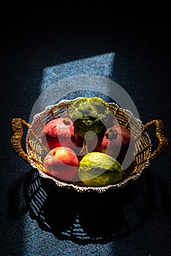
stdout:
[(115, 184), (122, 179), (129, 142), (129, 130), (118, 124), (104, 100), (80, 98), (69, 117), (53, 119), (42, 130), (42, 143), (49, 148), (44, 167), (63, 181), (92, 187)]

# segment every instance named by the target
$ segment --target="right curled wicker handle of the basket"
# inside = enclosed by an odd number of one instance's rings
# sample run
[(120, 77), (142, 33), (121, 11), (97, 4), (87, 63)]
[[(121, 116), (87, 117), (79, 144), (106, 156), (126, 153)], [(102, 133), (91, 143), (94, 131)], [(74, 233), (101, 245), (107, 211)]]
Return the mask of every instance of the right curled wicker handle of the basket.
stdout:
[(151, 160), (159, 157), (160, 154), (162, 154), (167, 149), (167, 146), (169, 145), (169, 140), (164, 135), (164, 122), (161, 121), (160, 119), (156, 119), (145, 124), (144, 128), (148, 129), (153, 124), (156, 126), (156, 138), (159, 140), (159, 146), (151, 154)]

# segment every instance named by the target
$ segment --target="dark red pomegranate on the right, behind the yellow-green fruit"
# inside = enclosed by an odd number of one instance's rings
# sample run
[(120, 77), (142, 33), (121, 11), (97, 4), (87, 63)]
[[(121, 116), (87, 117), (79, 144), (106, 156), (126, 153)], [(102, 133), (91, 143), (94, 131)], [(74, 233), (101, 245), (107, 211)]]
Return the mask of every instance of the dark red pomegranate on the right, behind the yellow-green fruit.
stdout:
[(126, 152), (131, 143), (131, 133), (125, 127), (114, 124), (113, 127), (107, 129), (101, 144), (98, 144), (94, 151), (99, 151), (114, 157), (122, 164)]

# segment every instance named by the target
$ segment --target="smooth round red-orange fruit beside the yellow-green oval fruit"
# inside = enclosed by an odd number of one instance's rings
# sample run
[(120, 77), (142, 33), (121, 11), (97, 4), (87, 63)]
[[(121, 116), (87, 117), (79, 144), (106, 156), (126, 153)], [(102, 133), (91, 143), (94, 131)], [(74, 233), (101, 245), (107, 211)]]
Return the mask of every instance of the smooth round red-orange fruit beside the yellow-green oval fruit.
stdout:
[(44, 159), (47, 174), (66, 181), (74, 181), (77, 176), (79, 162), (71, 148), (58, 146), (47, 153)]

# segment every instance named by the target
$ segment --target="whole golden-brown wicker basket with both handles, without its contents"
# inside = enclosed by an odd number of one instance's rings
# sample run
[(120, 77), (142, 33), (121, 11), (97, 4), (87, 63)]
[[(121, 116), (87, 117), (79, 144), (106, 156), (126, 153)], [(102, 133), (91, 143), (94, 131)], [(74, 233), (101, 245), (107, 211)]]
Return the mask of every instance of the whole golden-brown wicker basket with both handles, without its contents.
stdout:
[[(129, 110), (123, 110), (115, 103), (107, 103), (113, 111), (113, 115), (117, 119), (118, 124), (131, 130), (134, 139), (134, 160), (132, 164), (124, 170), (122, 181), (118, 184), (107, 185), (105, 187), (86, 187), (86, 185), (80, 181), (60, 181), (57, 178), (48, 176), (43, 166), (43, 161), (47, 155), (47, 148), (42, 145), (41, 131), (48, 121), (64, 116), (69, 117), (75, 100), (76, 99), (63, 100), (57, 105), (48, 106), (42, 113), (38, 113), (34, 116), (34, 120), (31, 124), (26, 123), (26, 121), (21, 118), (12, 119), (13, 135), (11, 145), (15, 153), (26, 160), (26, 162), (29, 162), (32, 167), (37, 168), (41, 177), (53, 180), (58, 187), (74, 189), (77, 192), (105, 192), (108, 189), (123, 187), (129, 180), (137, 179), (141, 175), (142, 170), (150, 165), (150, 161), (159, 157), (167, 148), (168, 140), (164, 136), (163, 121), (157, 119), (143, 125), (140, 120), (134, 118)], [(156, 138), (159, 140), (159, 146), (155, 151), (151, 152), (151, 139), (146, 131), (148, 127), (151, 127), (153, 124), (156, 126)], [(23, 137), (22, 125), (28, 128), (26, 135), (26, 152), (23, 151), (21, 146), (21, 139)]]

